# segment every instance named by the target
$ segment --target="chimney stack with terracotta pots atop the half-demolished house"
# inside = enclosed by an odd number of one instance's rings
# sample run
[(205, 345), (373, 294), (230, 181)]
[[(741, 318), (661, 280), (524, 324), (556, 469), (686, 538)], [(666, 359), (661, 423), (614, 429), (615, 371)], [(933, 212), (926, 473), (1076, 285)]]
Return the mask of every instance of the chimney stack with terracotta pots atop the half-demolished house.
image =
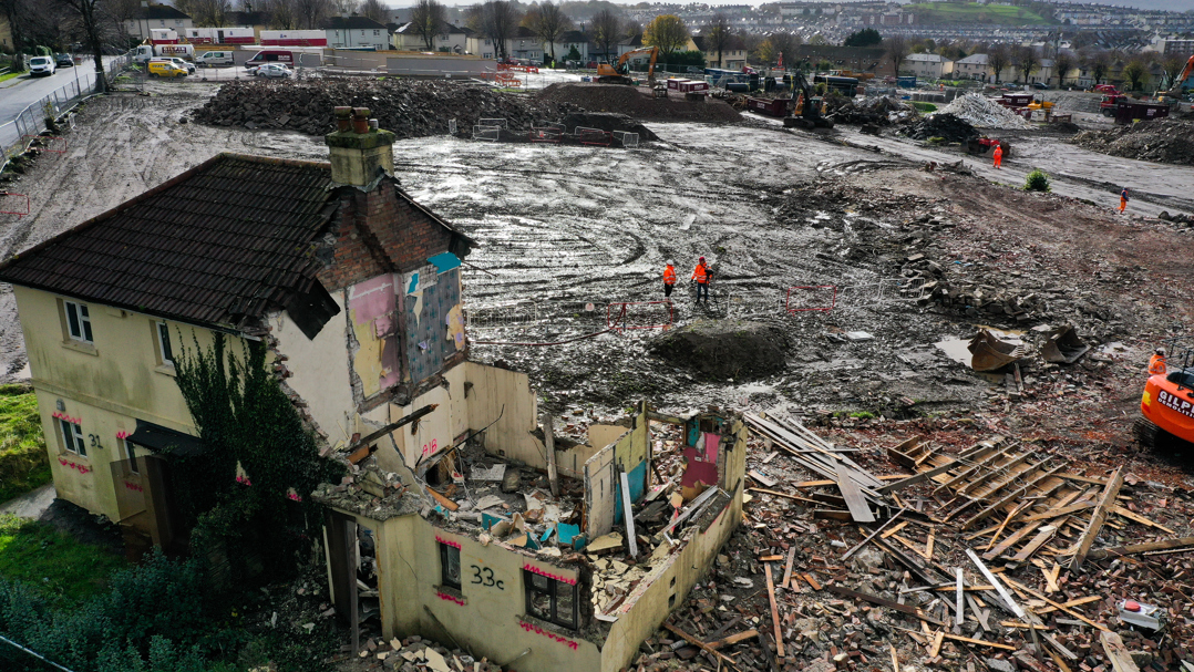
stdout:
[(331, 150), (332, 181), (365, 186), (381, 172), (394, 174), (394, 134), (378, 130), (368, 107), (337, 107), (336, 131), (324, 136)]

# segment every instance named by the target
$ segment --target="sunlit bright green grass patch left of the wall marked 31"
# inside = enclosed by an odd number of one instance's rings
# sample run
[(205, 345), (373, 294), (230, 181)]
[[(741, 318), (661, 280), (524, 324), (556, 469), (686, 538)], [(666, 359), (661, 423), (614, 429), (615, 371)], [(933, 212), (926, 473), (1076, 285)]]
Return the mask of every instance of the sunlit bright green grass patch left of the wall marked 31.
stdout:
[(0, 386), (0, 503), (50, 482), (37, 397), (23, 386)]

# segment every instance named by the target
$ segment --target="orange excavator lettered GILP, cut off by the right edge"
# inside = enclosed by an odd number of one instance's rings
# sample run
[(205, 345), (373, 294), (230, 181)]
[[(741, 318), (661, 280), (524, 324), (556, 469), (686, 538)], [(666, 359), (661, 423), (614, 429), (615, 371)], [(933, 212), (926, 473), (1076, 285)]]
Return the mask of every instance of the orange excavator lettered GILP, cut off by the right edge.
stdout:
[(1194, 347), (1173, 341), (1161, 357), (1161, 366), (1150, 363), (1133, 433), (1145, 448), (1194, 449)]

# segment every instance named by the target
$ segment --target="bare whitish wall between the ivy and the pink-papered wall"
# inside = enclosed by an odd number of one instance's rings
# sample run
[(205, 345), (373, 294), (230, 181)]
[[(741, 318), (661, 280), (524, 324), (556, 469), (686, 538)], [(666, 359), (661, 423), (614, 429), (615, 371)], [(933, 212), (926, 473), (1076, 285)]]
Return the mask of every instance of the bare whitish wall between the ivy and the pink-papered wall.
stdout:
[(269, 316), (278, 352), (289, 358), (287, 378), (307, 403), (307, 409), (328, 442), (347, 443), (352, 436), (352, 381), (349, 377), (347, 337), (345, 334), (343, 292), (332, 295), (340, 308), (314, 339), (307, 338), (284, 310)]

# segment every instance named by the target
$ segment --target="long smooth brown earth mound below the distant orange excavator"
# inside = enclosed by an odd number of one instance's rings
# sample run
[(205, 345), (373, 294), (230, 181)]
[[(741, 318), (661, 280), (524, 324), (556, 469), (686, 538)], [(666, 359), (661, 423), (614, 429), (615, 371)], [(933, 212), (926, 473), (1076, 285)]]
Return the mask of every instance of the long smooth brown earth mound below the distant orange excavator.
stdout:
[(716, 99), (684, 100), (675, 92), (654, 98), (650, 88), (617, 84), (553, 84), (537, 95), (543, 104), (574, 105), (590, 112), (618, 112), (635, 119), (739, 122), (741, 115)]

